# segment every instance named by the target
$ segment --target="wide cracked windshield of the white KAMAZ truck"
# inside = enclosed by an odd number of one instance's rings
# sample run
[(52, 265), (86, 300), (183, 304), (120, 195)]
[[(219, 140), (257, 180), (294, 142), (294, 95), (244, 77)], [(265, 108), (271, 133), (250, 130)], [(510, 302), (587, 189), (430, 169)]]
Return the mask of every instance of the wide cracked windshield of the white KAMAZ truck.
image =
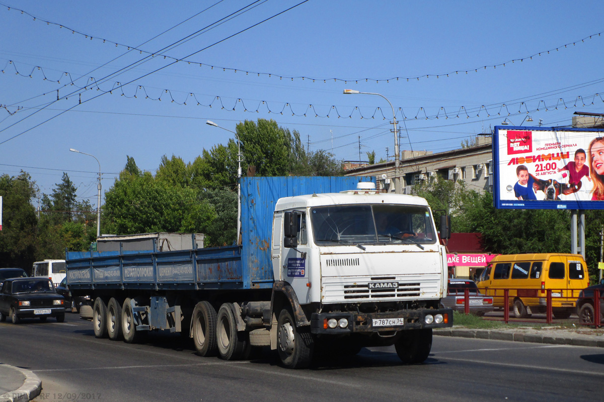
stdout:
[(407, 205), (338, 205), (310, 210), (317, 245), (375, 243), (427, 244), (436, 241), (427, 207)]

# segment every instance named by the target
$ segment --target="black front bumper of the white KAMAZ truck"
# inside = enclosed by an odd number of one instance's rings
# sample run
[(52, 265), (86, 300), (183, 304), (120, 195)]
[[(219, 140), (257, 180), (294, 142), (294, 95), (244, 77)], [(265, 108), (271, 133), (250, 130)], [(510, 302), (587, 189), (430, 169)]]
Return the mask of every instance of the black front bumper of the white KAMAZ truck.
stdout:
[[(443, 320), (440, 324), (432, 322), (426, 324), (426, 316), (442, 315)], [(339, 320), (345, 318), (348, 321), (347, 327), (325, 328), (326, 320)], [(374, 319), (402, 318), (403, 324), (391, 327), (374, 327)], [(345, 333), (380, 333), (388, 331), (401, 331), (420, 328), (449, 328), (453, 326), (452, 309), (426, 309), (426, 310), (399, 310), (387, 313), (312, 313), (310, 316), (310, 332), (315, 334), (345, 334)]]

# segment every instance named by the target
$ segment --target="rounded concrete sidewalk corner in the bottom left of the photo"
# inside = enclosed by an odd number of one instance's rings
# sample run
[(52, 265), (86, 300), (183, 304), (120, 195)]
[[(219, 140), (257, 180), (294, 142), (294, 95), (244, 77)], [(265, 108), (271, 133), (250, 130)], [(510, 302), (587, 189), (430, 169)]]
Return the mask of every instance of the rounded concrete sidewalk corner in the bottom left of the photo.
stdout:
[(42, 382), (33, 372), (0, 363), (0, 402), (27, 402), (42, 391)]

